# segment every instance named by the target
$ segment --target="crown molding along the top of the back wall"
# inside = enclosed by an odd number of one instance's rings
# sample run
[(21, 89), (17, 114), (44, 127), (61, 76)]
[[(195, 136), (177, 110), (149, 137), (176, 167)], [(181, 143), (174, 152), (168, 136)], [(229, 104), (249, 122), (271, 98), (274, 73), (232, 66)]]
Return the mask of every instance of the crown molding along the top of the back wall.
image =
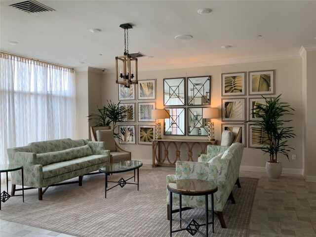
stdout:
[[(172, 70), (172, 69), (181, 69), (181, 68), (199, 68), (199, 67), (210, 67), (210, 66), (221, 66), (229, 64), (239, 64), (239, 63), (253, 63), (253, 62), (264, 62), (264, 61), (275, 61), (275, 60), (284, 60), (284, 59), (295, 59), (301, 58), (300, 54), (289, 54), (289, 55), (278, 55), (278, 56), (269, 56), (269, 57), (254, 57), (254, 58), (232, 58), (227, 60), (214, 60), (207, 62), (199, 63), (189, 63), (189, 64), (174, 64), (168, 66), (158, 66), (158, 67), (148, 67), (141, 68), (138, 66), (138, 72), (148, 72), (148, 71), (160, 71), (160, 70)], [(113, 74), (115, 70), (107, 70), (106, 74)]]

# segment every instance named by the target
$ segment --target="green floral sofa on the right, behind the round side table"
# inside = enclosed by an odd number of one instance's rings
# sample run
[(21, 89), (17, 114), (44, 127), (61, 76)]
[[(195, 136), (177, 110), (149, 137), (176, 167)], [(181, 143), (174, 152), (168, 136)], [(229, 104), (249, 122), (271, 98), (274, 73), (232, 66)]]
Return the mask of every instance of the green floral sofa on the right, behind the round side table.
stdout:
[[(201, 155), (198, 162), (177, 161), (176, 174), (167, 175), (169, 182), (178, 179), (205, 179), (213, 180), (218, 191), (214, 194), (214, 211), (219, 217), (222, 228), (226, 228), (223, 209), (228, 199), (235, 203), (232, 190), (239, 184), (239, 168), (243, 152), (241, 143), (233, 143), (231, 146), (207, 146), (207, 155)], [(208, 198), (211, 209), (211, 197)], [(182, 206), (192, 208), (205, 208), (204, 196), (182, 196)], [(173, 194), (172, 205), (179, 205), (179, 195)], [(169, 192), (167, 191), (167, 213), (169, 219)]]

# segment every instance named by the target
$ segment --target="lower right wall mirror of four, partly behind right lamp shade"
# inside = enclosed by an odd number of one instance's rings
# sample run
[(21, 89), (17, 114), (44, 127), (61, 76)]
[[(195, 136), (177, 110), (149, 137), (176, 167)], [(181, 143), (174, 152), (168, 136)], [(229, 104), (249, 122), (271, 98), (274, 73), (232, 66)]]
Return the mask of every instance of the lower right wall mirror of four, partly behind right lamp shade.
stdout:
[(207, 136), (207, 121), (203, 118), (203, 108), (188, 108), (188, 136)]

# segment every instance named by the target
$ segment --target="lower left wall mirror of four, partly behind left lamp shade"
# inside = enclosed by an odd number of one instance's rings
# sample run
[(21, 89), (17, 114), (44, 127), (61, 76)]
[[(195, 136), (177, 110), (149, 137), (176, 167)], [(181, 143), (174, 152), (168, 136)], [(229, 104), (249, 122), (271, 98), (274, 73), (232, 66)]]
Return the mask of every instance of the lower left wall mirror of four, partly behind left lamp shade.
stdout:
[(170, 118), (165, 118), (164, 135), (185, 135), (185, 109), (165, 108)]

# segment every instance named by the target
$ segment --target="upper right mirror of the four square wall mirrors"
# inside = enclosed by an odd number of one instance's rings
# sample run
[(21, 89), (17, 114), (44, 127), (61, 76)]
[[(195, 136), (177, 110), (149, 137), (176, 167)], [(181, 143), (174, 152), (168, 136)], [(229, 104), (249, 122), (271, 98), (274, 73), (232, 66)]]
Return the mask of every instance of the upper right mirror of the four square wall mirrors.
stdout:
[(211, 76), (188, 78), (188, 105), (210, 105)]

